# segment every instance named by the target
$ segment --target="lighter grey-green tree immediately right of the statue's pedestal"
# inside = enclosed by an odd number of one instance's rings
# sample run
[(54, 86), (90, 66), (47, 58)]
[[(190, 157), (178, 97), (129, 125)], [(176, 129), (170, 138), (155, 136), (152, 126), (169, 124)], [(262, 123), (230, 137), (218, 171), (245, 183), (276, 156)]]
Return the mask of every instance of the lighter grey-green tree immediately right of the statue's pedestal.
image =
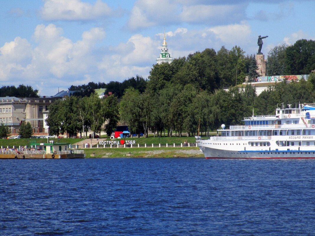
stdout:
[(267, 56), (267, 75), (276, 76), (284, 75), (285, 69), (285, 50), (288, 47), (287, 44), (281, 44), (272, 48), (268, 52)]

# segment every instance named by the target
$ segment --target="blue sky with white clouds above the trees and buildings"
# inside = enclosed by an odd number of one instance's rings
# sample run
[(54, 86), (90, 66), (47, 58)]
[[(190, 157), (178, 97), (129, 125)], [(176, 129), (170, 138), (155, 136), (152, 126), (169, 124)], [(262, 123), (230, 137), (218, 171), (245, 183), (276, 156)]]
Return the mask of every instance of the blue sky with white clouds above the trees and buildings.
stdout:
[[(172, 57), (237, 45), (246, 54), (315, 39), (315, 1), (10, 0), (0, 8), (0, 86), (52, 96), (71, 85), (147, 78), (163, 42)], [(314, 68), (315, 69), (315, 68)]]

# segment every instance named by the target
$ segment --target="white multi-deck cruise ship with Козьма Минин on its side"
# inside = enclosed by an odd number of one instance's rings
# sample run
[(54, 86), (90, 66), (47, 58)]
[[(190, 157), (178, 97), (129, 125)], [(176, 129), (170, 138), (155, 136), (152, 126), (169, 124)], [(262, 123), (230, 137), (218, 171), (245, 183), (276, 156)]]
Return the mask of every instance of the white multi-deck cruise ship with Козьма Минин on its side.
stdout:
[(275, 115), (244, 118), (244, 125), (218, 130), (218, 135), (196, 142), (211, 158), (315, 158), (315, 105), (276, 109)]

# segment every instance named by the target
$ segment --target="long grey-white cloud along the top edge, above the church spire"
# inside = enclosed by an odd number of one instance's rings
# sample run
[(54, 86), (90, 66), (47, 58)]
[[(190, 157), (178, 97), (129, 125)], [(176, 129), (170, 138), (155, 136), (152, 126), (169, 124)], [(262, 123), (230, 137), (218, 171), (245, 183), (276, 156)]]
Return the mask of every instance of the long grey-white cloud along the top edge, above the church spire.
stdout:
[(131, 10), (128, 26), (134, 31), (155, 25), (182, 23), (221, 25), (246, 19), (247, 3), (221, 4), (211, 4), (209, 1), (188, 3), (171, 0), (137, 0)]

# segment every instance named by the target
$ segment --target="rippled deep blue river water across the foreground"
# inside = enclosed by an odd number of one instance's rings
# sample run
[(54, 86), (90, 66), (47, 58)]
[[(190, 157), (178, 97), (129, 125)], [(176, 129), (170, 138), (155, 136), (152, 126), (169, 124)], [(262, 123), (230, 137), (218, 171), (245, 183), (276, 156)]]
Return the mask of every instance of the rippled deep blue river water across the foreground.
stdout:
[(315, 160), (0, 160), (0, 235), (315, 235)]

